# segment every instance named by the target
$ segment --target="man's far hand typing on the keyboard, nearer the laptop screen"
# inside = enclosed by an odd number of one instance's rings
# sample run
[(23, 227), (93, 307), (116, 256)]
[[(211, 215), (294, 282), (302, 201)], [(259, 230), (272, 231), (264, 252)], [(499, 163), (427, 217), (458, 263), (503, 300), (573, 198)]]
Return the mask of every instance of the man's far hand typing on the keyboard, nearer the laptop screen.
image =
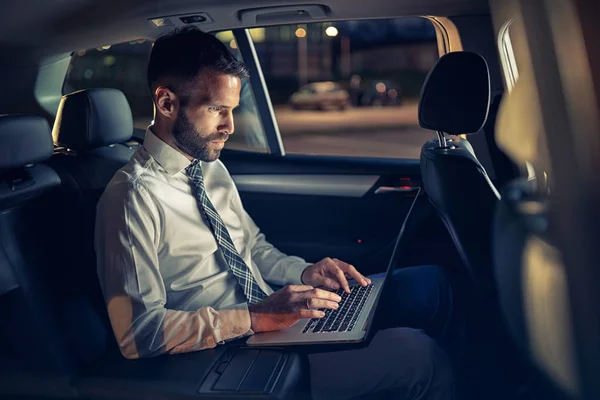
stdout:
[(306, 285), (322, 286), (333, 290), (341, 287), (346, 293), (350, 293), (348, 279), (354, 279), (362, 286), (371, 284), (371, 280), (362, 276), (356, 268), (337, 258), (333, 260), (324, 258), (318, 263), (306, 267), (302, 272), (302, 282)]

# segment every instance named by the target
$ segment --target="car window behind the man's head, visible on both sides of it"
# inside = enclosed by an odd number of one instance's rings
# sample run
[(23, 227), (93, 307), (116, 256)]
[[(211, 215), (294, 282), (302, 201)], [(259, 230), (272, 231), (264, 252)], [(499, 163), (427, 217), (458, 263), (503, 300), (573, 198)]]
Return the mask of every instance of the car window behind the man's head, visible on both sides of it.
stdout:
[[(232, 32), (221, 32), (218, 37), (241, 59)], [(142, 39), (77, 51), (71, 59), (63, 94), (99, 87), (121, 90), (131, 106), (134, 135), (141, 139), (154, 118), (154, 106), (146, 80), (146, 66), (151, 50), (152, 42)], [(227, 141), (227, 148), (269, 152), (254, 95), (247, 80), (242, 82), (240, 106), (234, 111), (234, 124), (235, 134)]]

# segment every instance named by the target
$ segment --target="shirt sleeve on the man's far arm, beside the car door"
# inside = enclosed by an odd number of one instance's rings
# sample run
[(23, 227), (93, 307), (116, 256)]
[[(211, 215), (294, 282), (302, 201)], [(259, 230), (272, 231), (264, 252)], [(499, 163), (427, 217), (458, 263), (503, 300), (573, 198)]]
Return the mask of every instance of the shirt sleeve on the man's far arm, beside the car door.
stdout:
[(254, 220), (244, 209), (242, 199), (234, 185), (233, 206), (240, 215), (248, 235), (248, 246), (252, 252), (252, 261), (260, 270), (262, 277), (276, 285), (302, 285), (302, 272), (311, 265), (304, 259), (288, 256), (269, 243)]

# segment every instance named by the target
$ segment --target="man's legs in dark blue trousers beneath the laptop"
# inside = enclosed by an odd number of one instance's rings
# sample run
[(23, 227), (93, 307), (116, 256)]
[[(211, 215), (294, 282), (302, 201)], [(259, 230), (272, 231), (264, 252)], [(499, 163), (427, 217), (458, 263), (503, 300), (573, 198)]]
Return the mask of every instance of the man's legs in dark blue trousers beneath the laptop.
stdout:
[(317, 400), (453, 398), (450, 362), (420, 330), (382, 330), (366, 348), (313, 354), (309, 362)]

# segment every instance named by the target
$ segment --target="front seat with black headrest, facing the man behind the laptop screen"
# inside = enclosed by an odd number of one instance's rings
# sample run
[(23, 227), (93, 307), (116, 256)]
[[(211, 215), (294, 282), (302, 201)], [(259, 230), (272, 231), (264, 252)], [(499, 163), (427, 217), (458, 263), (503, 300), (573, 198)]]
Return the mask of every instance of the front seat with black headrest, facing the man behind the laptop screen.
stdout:
[[(475, 296), (467, 297), (466, 312), (476, 321), (469, 328), (468, 340), (477, 349), (473, 351), (485, 351), (494, 358), (488, 375), (505, 390), (495, 395), (510, 397), (520, 390), (522, 365), (501, 318), (492, 262), (492, 221), (500, 194), (469, 141), (459, 137), (481, 131), (490, 97), (488, 65), (479, 54), (451, 52), (438, 60), (427, 76), (419, 103), (421, 127), (438, 135), (422, 147), (421, 175), (429, 200), (475, 284)], [(453, 135), (452, 141), (445, 134)], [(486, 337), (494, 348), (480, 337)], [(463, 363), (467, 369), (474, 365)], [(479, 381), (484, 393), (488, 384)]]

